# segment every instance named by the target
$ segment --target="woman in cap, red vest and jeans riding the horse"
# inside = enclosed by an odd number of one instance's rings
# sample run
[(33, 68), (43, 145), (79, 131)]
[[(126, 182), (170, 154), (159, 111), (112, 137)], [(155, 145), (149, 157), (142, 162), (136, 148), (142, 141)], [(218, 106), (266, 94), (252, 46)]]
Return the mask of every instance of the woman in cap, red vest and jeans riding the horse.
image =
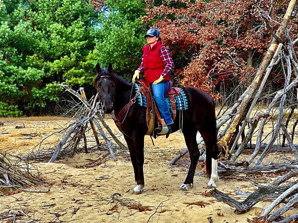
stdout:
[(142, 49), (142, 63), (135, 71), (133, 82), (139, 78), (141, 72), (144, 73), (145, 80), (151, 85), (158, 110), (167, 125), (166, 128), (156, 128), (155, 131), (159, 134), (172, 133), (174, 122), (165, 95), (169, 88), (170, 73), (174, 68), (173, 59), (161, 43), (157, 29), (149, 29), (144, 37), (148, 44)]

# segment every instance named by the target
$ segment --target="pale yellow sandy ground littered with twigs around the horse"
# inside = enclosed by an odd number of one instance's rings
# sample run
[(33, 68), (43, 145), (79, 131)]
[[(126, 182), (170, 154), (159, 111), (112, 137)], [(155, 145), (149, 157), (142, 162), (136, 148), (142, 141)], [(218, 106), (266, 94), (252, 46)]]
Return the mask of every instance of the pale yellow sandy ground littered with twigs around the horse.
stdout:
[[(66, 125), (67, 120), (59, 117), (36, 117), (23, 119), (0, 119), (0, 152), (27, 154), (41, 139)], [(116, 132), (111, 119), (107, 122)], [(16, 125), (25, 128), (15, 129)], [(21, 135), (31, 133), (30, 136)], [(146, 136), (145, 148), (145, 192), (131, 194), (135, 186), (133, 167), (128, 157), (118, 156), (118, 161), (107, 161), (99, 166), (83, 168), (83, 165), (96, 160), (100, 152), (77, 154), (73, 158), (55, 163), (37, 163), (43, 179), (50, 188), (48, 193), (18, 192), (0, 196), (0, 214), (22, 210), (28, 217), (16, 222), (74, 222), (74, 223), (245, 223), (258, 216), (269, 203), (260, 202), (248, 213), (236, 215), (229, 206), (217, 202), (207, 193), (207, 178), (202, 163), (198, 164), (194, 187), (190, 191), (180, 191), (188, 170), (188, 158), (174, 167), (167, 164), (172, 157), (184, 148), (183, 135), (179, 132), (168, 139), (154, 140), (155, 147)], [(275, 156), (275, 155), (271, 155)], [(252, 192), (255, 187), (244, 180), (220, 180), (218, 189), (239, 200), (245, 197), (234, 196), (241, 187), (242, 192)], [(33, 189), (33, 188), (31, 188)], [(116, 195), (121, 203), (111, 202)], [(130, 200), (133, 199), (133, 200)], [(140, 204), (144, 210), (123, 207), (125, 202)], [(297, 213), (291, 210), (286, 216)], [(5, 222), (5, 221), (3, 221)]]

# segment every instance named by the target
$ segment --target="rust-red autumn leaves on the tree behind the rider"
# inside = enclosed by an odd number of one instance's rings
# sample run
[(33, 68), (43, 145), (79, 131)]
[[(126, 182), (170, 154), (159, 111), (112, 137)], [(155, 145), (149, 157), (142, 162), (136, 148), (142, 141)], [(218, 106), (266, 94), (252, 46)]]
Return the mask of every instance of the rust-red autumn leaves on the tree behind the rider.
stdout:
[[(269, 47), (272, 37), (261, 15), (270, 12), (276, 31), (289, 1), (274, 0), (271, 8), (271, 0), (147, 0), (142, 21), (159, 29), (180, 83), (219, 98), (213, 89), (253, 75)], [(297, 17), (290, 27), (297, 38)]]

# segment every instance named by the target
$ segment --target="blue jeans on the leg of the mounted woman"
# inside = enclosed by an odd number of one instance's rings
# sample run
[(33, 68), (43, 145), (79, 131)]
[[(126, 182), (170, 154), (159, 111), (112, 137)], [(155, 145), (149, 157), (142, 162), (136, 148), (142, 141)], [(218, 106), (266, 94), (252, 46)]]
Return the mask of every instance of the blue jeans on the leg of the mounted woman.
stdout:
[(169, 88), (169, 82), (163, 81), (158, 84), (151, 84), (151, 88), (161, 117), (163, 117), (167, 125), (173, 124), (174, 122), (172, 120), (169, 107), (165, 101), (165, 95)]

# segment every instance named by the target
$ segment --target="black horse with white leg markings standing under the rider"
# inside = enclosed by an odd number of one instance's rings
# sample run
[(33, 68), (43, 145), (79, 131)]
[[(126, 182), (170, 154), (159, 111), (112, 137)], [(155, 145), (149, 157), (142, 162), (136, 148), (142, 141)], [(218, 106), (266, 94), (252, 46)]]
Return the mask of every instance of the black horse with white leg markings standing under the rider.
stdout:
[[(103, 69), (97, 63), (95, 69), (96, 76), (93, 84), (102, 102), (103, 111), (105, 113), (114, 111), (117, 117), (119, 111), (136, 94), (132, 92), (132, 83), (128, 83), (114, 74), (112, 64), (110, 63), (108, 68)], [(182, 111), (182, 132), (189, 150), (191, 164), (187, 177), (180, 189), (189, 190), (193, 186), (193, 178), (200, 157), (196, 141), (198, 131), (201, 133), (206, 145), (206, 169), (207, 176), (210, 178), (207, 186), (208, 188), (214, 188), (216, 187), (215, 182), (218, 180), (217, 160), (219, 155), (214, 101), (208, 94), (196, 88), (185, 87), (184, 90), (189, 101), (189, 109)], [(141, 194), (145, 185), (143, 165), (144, 137), (148, 128), (146, 124), (146, 109), (135, 103), (129, 108), (124, 118), (121, 123), (121, 130), (129, 148), (137, 183), (133, 193)], [(179, 130), (179, 112), (177, 112), (173, 127), (173, 131), (177, 130)]]

